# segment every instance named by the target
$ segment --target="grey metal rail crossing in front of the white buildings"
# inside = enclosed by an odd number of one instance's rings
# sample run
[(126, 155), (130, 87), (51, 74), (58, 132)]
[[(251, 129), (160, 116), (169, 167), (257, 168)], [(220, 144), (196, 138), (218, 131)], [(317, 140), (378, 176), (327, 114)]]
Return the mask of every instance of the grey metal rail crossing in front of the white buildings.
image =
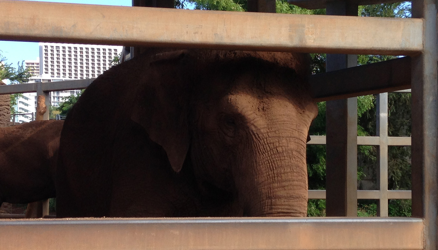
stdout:
[(71, 81), (51, 81), (51, 82), (32, 82), (13, 85), (0, 85), (0, 95), (36, 92), (36, 86), (41, 84), (43, 92), (63, 91), (73, 89), (84, 89), (94, 81), (95, 78), (71, 80)]

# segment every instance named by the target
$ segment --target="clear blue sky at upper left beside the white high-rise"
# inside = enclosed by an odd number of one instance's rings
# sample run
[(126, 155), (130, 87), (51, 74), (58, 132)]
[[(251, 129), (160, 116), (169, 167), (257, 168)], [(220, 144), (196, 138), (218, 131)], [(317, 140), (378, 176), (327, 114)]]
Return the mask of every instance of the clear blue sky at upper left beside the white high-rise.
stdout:
[[(57, 2), (71, 4), (102, 4), (131, 6), (132, 0), (39, 0), (40, 2)], [(6, 57), (6, 63), (17, 67), (22, 60), (36, 60), (39, 56), (38, 42), (10, 42), (0, 41), (0, 54)]]

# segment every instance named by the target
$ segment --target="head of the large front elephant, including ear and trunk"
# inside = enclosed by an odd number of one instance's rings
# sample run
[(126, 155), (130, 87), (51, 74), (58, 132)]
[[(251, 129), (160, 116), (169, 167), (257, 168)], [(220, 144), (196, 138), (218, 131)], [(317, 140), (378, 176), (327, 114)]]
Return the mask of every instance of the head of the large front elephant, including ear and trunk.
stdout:
[[(131, 119), (235, 216), (305, 216), (306, 140), (318, 109), (305, 54), (176, 50), (152, 56)], [(164, 69), (164, 70), (163, 70)], [(214, 215), (212, 215), (214, 216)]]

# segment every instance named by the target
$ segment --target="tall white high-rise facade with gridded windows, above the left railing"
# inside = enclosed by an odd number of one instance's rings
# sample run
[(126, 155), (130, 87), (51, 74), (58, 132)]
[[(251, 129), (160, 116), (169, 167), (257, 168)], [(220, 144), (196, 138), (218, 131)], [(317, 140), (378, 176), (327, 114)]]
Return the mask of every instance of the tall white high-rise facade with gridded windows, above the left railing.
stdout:
[(39, 43), (39, 74), (51, 78), (94, 78), (113, 66), (122, 46)]

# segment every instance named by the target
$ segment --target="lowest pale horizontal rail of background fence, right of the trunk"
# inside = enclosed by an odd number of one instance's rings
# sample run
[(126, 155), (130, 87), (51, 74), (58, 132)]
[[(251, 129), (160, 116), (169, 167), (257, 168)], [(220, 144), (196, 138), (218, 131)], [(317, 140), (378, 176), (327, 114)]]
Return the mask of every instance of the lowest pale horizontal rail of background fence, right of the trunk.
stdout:
[[(357, 199), (378, 200), (379, 190), (357, 190)], [(309, 199), (325, 199), (325, 190), (308, 190)], [(388, 199), (412, 199), (410, 190), (388, 190)]]

